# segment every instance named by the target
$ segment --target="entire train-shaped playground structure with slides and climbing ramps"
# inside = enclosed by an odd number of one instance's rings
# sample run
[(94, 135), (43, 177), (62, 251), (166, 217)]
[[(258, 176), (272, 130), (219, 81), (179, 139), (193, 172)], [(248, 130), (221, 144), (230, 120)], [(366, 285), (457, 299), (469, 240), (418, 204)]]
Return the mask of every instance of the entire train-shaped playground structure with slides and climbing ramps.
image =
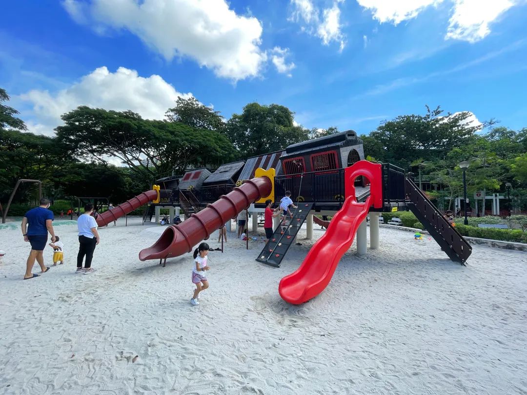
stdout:
[[(312, 238), (314, 221), (327, 228), (300, 267), (280, 281), (282, 299), (292, 304), (303, 303), (324, 290), (355, 236), (357, 252), (366, 253), (367, 215), (372, 219), (370, 248), (379, 246), (380, 213), (411, 210), (448, 257), (465, 264), (471, 246), (418, 189), (411, 174), (389, 163), (363, 159), (362, 141), (355, 132), (320, 137), (247, 162), (222, 165), (214, 173), (194, 169), (179, 180), (158, 180), (165, 187), (171, 184), (172, 189), (154, 185), (100, 214), (97, 224), (106, 225), (149, 202), (177, 206), (178, 214), (181, 209), (187, 220), (171, 224), (157, 242), (139, 253), (141, 261), (159, 259), (164, 266), (168, 258), (191, 252), (194, 245), (207, 240), (242, 210), (252, 211), (253, 230), (257, 229), (254, 214), (263, 211), (265, 201), (277, 204), (285, 191), (291, 191), (298, 208), (292, 211), (292, 218), (275, 222), (275, 233), (256, 260), (279, 266), (305, 221), (308, 238)], [(332, 215), (333, 219), (315, 220), (315, 213)]]

